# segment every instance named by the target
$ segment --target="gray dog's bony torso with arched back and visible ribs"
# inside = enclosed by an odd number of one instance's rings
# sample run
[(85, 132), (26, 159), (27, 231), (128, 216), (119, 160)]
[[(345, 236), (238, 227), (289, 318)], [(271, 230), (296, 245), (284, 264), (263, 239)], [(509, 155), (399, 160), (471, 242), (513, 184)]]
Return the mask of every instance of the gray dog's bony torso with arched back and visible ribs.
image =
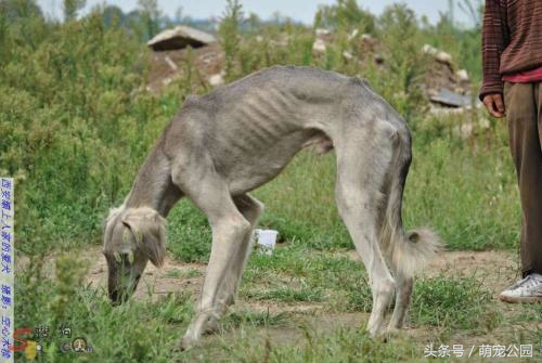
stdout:
[(176, 156), (186, 145), (190, 153), (201, 147), (238, 194), (273, 179), (304, 146), (330, 150), (345, 128), (371, 122), (363, 117), (371, 114), (389, 114), (391, 122), (401, 122), (359, 78), (275, 66), (207, 95), (190, 96), (166, 130), (166, 143)]

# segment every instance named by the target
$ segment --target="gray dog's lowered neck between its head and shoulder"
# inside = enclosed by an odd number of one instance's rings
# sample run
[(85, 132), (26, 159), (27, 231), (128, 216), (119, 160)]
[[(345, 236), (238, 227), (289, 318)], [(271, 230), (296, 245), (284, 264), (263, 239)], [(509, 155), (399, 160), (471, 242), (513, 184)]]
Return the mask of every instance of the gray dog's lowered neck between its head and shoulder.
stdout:
[(171, 181), (170, 161), (159, 147), (155, 147), (141, 167), (125, 207), (150, 207), (166, 218), (181, 196)]

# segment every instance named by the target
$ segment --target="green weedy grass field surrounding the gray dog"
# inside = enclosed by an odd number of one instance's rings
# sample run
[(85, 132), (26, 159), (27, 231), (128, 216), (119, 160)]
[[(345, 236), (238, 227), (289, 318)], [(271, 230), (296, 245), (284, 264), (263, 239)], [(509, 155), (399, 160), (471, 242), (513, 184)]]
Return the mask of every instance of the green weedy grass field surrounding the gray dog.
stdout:
[[(188, 200), (172, 210), (166, 267), (151, 269), (137, 298), (117, 308), (104, 289), (102, 220), (186, 94), (210, 86), (185, 72), (162, 93), (146, 91), (152, 27), (143, 21), (105, 22), (102, 9), (57, 23), (33, 1), (0, 1), (12, 7), (0, 12), (0, 174), (16, 179), (16, 327), (50, 327), (40, 362), (416, 362), (429, 345), (463, 345), (466, 354), (475, 345), (533, 345), (534, 358), (521, 361), (540, 361), (542, 307), (492, 297), (518, 272), (520, 216), (504, 121), (479, 127), (481, 109), (436, 116), (420, 86), (427, 70), (420, 50), (430, 43), (448, 49), (476, 89), (479, 29), (446, 16), (427, 25), (402, 5), (376, 17), (354, 4), (338, 1), (317, 16), (338, 40), (315, 55), (314, 29), (254, 20), (243, 27), (230, 2), (219, 30), (225, 78), (273, 64), (367, 78), (413, 132), (405, 225), (433, 228), (448, 251), (416, 282), (405, 333), (371, 339), (366, 273), (334, 204), (335, 156), (301, 152), (255, 192), (267, 206), (260, 225), (280, 232), (280, 246), (271, 257), (253, 254), (220, 332), (178, 352), (210, 250), (205, 217)], [(341, 56), (364, 56), (348, 40), (356, 28), (387, 50), (384, 68)], [(270, 46), (284, 35), (285, 47)], [(466, 122), (475, 132), (462, 138), (456, 130)], [(62, 325), (94, 352), (60, 352)], [(470, 360), (481, 360), (478, 348)]]

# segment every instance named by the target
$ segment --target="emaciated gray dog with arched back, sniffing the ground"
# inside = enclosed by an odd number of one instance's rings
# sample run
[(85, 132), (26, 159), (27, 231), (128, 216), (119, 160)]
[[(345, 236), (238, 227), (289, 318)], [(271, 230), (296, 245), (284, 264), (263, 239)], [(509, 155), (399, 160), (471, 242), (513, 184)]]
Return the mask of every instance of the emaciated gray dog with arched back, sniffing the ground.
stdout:
[(234, 302), (263, 209), (247, 192), (275, 178), (308, 145), (336, 150), (338, 211), (373, 291), (370, 334), (386, 330), (384, 315), (393, 295), (388, 330), (400, 328), (414, 272), (440, 247), (430, 231), (403, 231), (410, 131), (366, 81), (309, 67), (272, 67), (186, 99), (125, 203), (106, 220), (103, 252), (112, 300), (122, 302), (133, 293), (149, 260), (163, 264), (166, 217), (188, 196), (209, 220), (212, 248), (181, 347), (215, 329)]

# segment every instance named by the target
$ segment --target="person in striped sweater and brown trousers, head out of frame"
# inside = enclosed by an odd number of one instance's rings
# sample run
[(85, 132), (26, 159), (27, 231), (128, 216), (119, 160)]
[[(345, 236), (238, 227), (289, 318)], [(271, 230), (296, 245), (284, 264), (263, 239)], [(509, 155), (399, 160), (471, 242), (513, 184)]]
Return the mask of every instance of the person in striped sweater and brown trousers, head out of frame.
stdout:
[(486, 0), (480, 100), (506, 116), (521, 199), (521, 280), (499, 295), (542, 301), (542, 0)]

